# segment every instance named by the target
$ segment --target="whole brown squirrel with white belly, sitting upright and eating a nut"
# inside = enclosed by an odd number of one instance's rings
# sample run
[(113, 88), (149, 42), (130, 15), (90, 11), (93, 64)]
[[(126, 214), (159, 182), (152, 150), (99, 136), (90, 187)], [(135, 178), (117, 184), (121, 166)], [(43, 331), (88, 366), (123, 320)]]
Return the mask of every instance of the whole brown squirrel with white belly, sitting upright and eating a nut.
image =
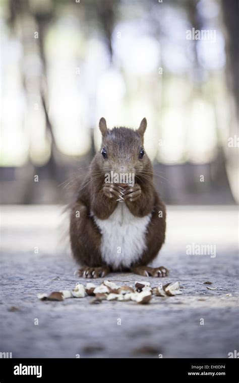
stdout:
[[(109, 130), (103, 117), (99, 121), (101, 148), (77, 185), (70, 213), (72, 253), (82, 266), (79, 277), (99, 278), (112, 271), (168, 275), (164, 267), (147, 266), (164, 243), (166, 208), (143, 147), (146, 127), (146, 118), (136, 131), (122, 126)], [(115, 182), (112, 174), (132, 179), (116, 177)]]

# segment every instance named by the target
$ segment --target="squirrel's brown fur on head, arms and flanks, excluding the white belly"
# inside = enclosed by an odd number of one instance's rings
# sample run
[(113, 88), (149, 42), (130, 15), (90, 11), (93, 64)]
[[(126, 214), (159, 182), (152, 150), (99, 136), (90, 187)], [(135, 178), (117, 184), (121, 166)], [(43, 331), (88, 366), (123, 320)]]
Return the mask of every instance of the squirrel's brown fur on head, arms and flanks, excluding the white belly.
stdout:
[[(131, 213), (137, 217), (144, 217), (152, 213), (152, 218), (146, 234), (146, 250), (141, 259), (131, 265), (134, 272), (141, 275), (157, 276), (160, 268), (152, 269), (150, 273), (145, 266), (148, 265), (160, 250), (165, 239), (166, 210), (153, 185), (153, 167), (147, 154), (139, 159), (139, 152), (143, 146), (143, 135), (146, 129), (146, 119), (143, 119), (138, 131), (126, 127), (114, 127), (108, 130), (106, 121), (100, 120), (102, 133), (101, 149), (107, 151), (107, 159), (104, 159), (100, 151), (91, 162), (89, 173), (83, 182), (79, 182), (76, 200), (71, 208), (70, 238), (74, 258), (85, 266), (80, 270), (80, 275), (89, 277), (104, 276), (109, 268), (103, 262), (100, 252), (101, 234), (94, 223), (91, 212), (100, 219), (107, 219), (116, 206), (118, 195), (117, 185), (112, 188), (105, 185), (105, 173), (114, 171), (117, 173), (135, 173), (134, 187), (128, 186), (125, 204)], [(133, 190), (133, 192), (131, 191)], [(114, 194), (112, 194), (114, 193)], [(131, 201), (133, 199), (133, 201)], [(162, 211), (162, 218), (158, 212)], [(77, 215), (80, 212), (80, 218)], [(93, 275), (88, 270), (94, 268)], [(96, 268), (101, 268), (97, 269)], [(86, 271), (87, 270), (87, 271)], [(93, 269), (92, 269), (93, 270)], [(166, 269), (165, 269), (166, 270)], [(165, 273), (167, 270), (165, 271)]]

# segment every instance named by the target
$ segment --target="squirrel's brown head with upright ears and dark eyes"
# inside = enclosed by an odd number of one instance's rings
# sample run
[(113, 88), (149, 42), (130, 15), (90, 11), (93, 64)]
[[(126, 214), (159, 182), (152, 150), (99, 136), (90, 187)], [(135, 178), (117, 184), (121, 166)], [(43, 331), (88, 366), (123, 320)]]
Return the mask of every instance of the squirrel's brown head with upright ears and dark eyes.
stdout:
[(143, 118), (136, 131), (122, 126), (109, 130), (102, 117), (99, 121), (102, 143), (97, 154), (100, 169), (103, 172), (135, 173), (135, 175), (148, 169), (151, 162), (143, 146), (146, 127), (147, 120)]

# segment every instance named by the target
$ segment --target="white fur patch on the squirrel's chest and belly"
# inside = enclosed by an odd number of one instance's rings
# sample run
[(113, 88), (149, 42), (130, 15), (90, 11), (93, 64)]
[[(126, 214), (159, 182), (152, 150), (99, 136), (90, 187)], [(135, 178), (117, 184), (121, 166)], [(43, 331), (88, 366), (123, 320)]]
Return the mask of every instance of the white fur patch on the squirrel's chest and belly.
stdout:
[(112, 269), (128, 268), (142, 256), (151, 213), (142, 218), (135, 217), (125, 203), (118, 203), (108, 219), (93, 217), (102, 235), (102, 258)]

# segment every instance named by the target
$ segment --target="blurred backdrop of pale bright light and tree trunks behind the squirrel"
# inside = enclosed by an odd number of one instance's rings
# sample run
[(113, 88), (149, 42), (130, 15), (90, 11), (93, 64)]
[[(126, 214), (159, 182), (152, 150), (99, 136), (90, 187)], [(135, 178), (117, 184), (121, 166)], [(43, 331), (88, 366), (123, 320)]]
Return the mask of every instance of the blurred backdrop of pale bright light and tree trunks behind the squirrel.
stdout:
[[(147, 118), (167, 204), (238, 202), (237, 12), (237, 0), (2, 0), (0, 202), (64, 204), (101, 116)], [(215, 38), (188, 40), (192, 28)]]

